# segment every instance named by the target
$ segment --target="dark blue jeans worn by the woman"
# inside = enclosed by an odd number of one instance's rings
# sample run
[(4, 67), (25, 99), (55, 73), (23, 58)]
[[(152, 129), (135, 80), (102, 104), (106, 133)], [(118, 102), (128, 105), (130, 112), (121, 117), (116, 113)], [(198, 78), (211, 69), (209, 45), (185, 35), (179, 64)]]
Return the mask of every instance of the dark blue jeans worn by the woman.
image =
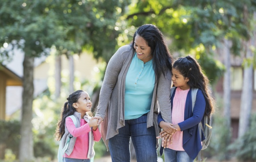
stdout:
[(147, 114), (125, 120), (119, 134), (109, 139), (112, 162), (130, 162), (130, 138), (134, 144), (137, 162), (157, 162), (157, 139), (154, 127), (147, 129)]

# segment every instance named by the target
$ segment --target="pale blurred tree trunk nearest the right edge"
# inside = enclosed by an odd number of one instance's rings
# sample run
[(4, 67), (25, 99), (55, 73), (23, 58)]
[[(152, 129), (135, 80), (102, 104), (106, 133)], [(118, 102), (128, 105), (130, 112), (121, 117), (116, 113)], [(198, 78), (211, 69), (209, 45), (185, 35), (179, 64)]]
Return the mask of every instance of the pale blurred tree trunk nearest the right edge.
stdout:
[[(253, 14), (253, 20), (256, 20), (256, 12)], [(245, 58), (248, 60), (253, 59), (253, 52), (251, 46), (256, 45), (255, 37), (256, 31), (253, 29), (253, 35), (245, 44), (246, 54)], [(244, 135), (249, 128), (250, 113), (253, 104), (253, 63), (245, 61), (244, 64), (244, 78), (243, 89), (241, 95), (240, 117), (239, 117), (239, 131), (238, 137)]]

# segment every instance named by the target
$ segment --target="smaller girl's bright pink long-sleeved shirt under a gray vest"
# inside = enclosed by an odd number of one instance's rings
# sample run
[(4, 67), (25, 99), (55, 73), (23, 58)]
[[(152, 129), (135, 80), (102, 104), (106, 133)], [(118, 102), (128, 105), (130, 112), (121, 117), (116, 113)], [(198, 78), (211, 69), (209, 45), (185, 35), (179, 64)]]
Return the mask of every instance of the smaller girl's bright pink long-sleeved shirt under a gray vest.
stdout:
[[(68, 156), (65, 153), (65, 157), (68, 158), (74, 158), (74, 159), (88, 159), (87, 153), (88, 153), (88, 146), (89, 146), (89, 132), (91, 131), (91, 128), (87, 122), (85, 122), (84, 119), (81, 119), (80, 121), (80, 127), (76, 128), (71, 118), (66, 118), (66, 126), (67, 130), (72, 134), (72, 136), (77, 137), (74, 149), (70, 156)], [(101, 139), (101, 134), (99, 132), (99, 129), (93, 130), (93, 137), (94, 141), (99, 142)]]

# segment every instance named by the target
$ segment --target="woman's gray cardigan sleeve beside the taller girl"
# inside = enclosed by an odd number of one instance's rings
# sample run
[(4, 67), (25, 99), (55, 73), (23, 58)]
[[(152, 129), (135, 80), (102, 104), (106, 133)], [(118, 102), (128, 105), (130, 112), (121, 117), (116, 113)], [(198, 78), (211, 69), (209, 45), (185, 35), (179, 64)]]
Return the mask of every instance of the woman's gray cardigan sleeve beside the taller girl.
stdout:
[(157, 100), (159, 108), (165, 122), (172, 123), (172, 108), (171, 108), (171, 85), (172, 85), (172, 72), (169, 70), (164, 76), (161, 73), (158, 86), (157, 86)]

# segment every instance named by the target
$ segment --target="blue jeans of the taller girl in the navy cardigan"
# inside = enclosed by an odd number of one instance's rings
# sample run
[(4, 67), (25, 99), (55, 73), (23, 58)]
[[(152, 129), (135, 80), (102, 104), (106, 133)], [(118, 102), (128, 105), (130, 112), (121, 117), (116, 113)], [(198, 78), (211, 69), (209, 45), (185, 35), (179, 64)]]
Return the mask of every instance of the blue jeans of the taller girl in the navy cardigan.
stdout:
[(193, 162), (186, 151), (176, 151), (170, 148), (163, 149), (165, 162)]

